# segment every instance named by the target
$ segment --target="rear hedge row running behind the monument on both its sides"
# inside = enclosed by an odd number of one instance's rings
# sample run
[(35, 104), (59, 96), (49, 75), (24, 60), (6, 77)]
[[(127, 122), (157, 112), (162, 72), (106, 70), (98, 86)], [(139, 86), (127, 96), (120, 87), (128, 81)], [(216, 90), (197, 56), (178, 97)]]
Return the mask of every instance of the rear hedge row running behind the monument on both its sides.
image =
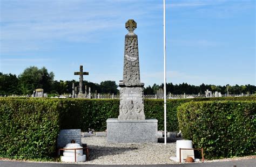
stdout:
[[(167, 130), (179, 130), (177, 107), (190, 101), (206, 100), (256, 100), (256, 97), (220, 97), (167, 100)], [(97, 131), (106, 130), (106, 119), (117, 118), (119, 115), (118, 99), (60, 99), (62, 104), (60, 128), (79, 128), (87, 131), (93, 128)], [(144, 111), (146, 118), (158, 120), (158, 130), (164, 130), (164, 101), (145, 99)]]

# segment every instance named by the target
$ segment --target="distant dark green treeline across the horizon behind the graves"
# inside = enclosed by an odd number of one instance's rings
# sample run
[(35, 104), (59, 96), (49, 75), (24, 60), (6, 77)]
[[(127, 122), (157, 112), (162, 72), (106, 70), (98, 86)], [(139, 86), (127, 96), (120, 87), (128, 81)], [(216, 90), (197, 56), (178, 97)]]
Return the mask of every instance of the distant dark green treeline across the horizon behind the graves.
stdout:
[[(44, 92), (50, 94), (70, 94), (72, 93), (72, 83), (75, 83), (75, 86), (79, 85), (78, 81), (54, 81), (53, 72), (48, 72), (48, 70), (43, 67), (38, 69), (35, 66), (26, 68), (22, 74), (16, 76), (14, 74), (3, 74), (0, 72), (0, 95), (31, 95), (33, 90), (42, 88)], [(91, 88), (91, 93), (114, 93), (115, 95), (119, 93), (118, 85), (114, 81), (103, 81), (100, 84), (84, 81), (83, 85), (87, 86), (87, 92), (89, 87)], [(154, 95), (157, 90), (164, 88), (164, 84), (153, 86), (147, 86), (144, 88), (144, 95)], [(83, 91), (85, 86), (83, 86)], [(225, 86), (215, 86), (215, 85), (205, 85), (201, 84), (200, 86), (194, 86), (187, 83), (176, 84), (172, 83), (166, 84), (166, 92), (172, 93), (174, 95), (181, 95), (186, 93), (187, 95), (197, 95), (198, 93), (204, 94), (205, 90), (218, 91), (223, 95), (227, 94), (227, 91), (230, 95), (239, 95), (244, 94), (254, 94), (256, 92), (256, 86), (254, 85), (225, 85)]]

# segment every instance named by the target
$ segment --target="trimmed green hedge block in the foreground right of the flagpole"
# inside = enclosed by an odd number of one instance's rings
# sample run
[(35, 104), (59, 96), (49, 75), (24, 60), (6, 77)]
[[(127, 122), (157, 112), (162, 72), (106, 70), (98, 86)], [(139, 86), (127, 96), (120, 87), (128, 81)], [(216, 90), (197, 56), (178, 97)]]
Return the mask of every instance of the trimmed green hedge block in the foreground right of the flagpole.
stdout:
[(178, 107), (183, 137), (208, 159), (255, 155), (256, 101), (201, 101)]

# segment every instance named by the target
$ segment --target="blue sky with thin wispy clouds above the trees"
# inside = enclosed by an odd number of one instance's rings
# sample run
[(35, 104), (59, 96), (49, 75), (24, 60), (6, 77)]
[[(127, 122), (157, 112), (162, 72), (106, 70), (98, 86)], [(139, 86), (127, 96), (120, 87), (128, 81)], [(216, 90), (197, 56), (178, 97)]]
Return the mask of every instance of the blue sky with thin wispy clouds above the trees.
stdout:
[[(45, 66), (56, 80), (122, 80), (125, 22), (137, 22), (141, 81), (163, 77), (161, 0), (0, 0), (0, 71)], [(166, 0), (167, 82), (253, 84), (255, 1)]]

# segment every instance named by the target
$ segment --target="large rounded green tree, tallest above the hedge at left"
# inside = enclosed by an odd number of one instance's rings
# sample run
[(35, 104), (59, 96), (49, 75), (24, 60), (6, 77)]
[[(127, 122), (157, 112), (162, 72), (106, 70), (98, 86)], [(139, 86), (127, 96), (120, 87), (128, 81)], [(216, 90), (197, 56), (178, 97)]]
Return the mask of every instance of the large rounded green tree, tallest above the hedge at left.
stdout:
[(20, 87), (23, 94), (31, 94), (33, 90), (42, 88), (44, 92), (49, 92), (53, 83), (53, 72), (43, 67), (38, 69), (35, 66), (26, 68), (21, 75), (18, 76)]

